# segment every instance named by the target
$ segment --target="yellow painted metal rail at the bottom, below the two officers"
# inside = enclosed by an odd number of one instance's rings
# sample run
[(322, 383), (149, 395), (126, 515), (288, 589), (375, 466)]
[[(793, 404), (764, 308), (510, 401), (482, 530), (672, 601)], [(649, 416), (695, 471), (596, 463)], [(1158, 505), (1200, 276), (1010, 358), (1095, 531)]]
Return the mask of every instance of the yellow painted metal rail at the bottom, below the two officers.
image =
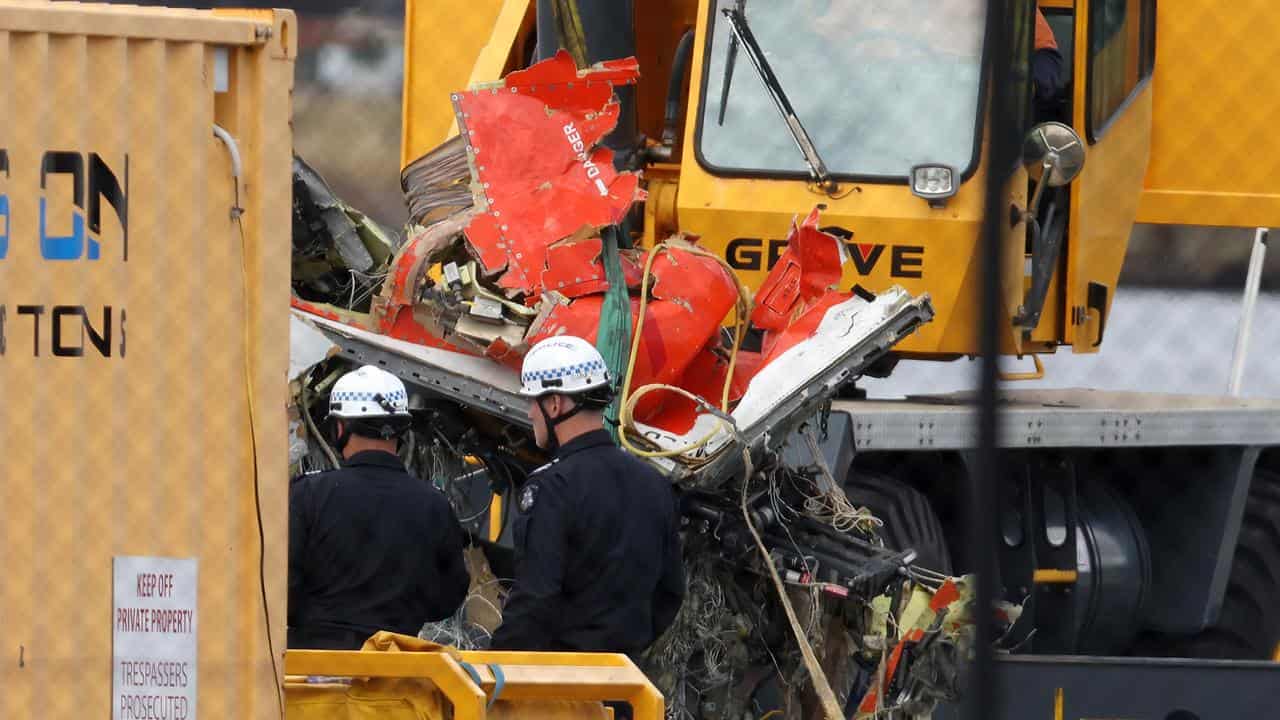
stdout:
[[(470, 664), (476, 687), (458, 665)], [(580, 652), (338, 652), (288, 651), (289, 675), (428, 678), (454, 705), (460, 719), (484, 717), (484, 700), (502, 667), (500, 698), (516, 706), (534, 701), (626, 701), (637, 720), (660, 720), (662, 694), (625, 655)], [(481, 692), (483, 691), (483, 692)], [(458, 707), (461, 706), (461, 711)], [(515, 710), (513, 708), (513, 710)], [(518, 712), (516, 712), (518, 715)]]

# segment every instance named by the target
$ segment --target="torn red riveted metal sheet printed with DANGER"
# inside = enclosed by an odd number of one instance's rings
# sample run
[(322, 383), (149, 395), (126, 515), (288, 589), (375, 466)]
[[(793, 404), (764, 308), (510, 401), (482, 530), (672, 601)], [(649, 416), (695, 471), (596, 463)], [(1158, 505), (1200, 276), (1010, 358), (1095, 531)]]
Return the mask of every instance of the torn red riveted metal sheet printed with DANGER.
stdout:
[(616, 224), (643, 199), (639, 176), (616, 172), (599, 145), (618, 119), (613, 86), (637, 77), (634, 61), (580, 72), (561, 51), (453, 95), (483, 210), (466, 236), (485, 272), (502, 272), (500, 287), (536, 290), (548, 246)]

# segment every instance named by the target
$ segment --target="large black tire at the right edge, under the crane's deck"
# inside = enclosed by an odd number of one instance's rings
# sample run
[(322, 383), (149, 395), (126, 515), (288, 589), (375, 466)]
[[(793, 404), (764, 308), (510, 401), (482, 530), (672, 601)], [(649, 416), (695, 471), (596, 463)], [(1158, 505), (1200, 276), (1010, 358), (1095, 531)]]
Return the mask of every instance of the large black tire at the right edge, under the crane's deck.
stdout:
[(1190, 637), (1151, 638), (1152, 655), (1271, 660), (1280, 646), (1280, 473), (1257, 470), (1240, 521), (1222, 612)]

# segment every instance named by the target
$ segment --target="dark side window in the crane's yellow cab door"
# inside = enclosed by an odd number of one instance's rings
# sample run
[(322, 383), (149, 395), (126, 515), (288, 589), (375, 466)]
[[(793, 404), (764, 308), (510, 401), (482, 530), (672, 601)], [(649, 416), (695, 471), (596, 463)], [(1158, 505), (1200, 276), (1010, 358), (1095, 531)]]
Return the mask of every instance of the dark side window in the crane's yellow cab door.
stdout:
[(1089, 137), (1098, 140), (1151, 77), (1155, 0), (1089, 4)]

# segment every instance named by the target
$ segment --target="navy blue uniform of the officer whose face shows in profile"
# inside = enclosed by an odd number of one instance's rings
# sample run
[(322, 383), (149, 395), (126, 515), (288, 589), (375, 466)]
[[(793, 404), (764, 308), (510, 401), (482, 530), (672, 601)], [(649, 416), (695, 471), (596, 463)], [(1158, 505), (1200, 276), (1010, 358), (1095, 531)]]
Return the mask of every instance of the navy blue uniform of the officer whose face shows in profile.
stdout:
[(520, 491), (516, 584), (494, 650), (636, 653), (685, 594), (676, 502), (604, 430), (564, 443)]

